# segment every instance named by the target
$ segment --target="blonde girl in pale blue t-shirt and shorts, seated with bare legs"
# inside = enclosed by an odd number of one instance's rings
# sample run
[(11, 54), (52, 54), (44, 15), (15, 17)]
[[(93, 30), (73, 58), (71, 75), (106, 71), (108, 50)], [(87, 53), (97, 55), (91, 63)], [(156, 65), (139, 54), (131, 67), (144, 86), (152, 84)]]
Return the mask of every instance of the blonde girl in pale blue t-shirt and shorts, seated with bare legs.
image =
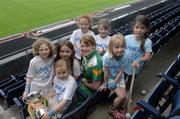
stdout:
[(124, 36), (122, 34), (114, 35), (109, 42), (108, 51), (103, 56), (104, 83), (101, 85), (100, 90), (108, 88), (117, 95), (113, 105), (110, 106), (111, 113), (118, 110), (117, 108), (126, 97), (123, 74), (125, 65), (124, 50)]

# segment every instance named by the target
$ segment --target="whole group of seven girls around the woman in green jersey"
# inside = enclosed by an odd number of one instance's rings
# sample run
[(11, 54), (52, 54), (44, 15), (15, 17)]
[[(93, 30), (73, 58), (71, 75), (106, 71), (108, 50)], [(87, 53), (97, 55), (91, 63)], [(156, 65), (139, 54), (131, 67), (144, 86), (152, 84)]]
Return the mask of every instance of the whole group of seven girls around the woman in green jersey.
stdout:
[(143, 63), (150, 59), (152, 42), (147, 38), (149, 19), (138, 15), (133, 24), (133, 33), (110, 37), (107, 19), (98, 22), (99, 34), (91, 30), (89, 16), (81, 16), (79, 29), (70, 40), (60, 41), (56, 48), (50, 40), (38, 39), (32, 47), (35, 57), (30, 61), (23, 99), (34, 91), (43, 92), (54, 105), (42, 119), (62, 113), (71, 103), (76, 87), (85, 96), (94, 91), (110, 89), (117, 97), (111, 106), (117, 110), (126, 99), (133, 68), (139, 73)]

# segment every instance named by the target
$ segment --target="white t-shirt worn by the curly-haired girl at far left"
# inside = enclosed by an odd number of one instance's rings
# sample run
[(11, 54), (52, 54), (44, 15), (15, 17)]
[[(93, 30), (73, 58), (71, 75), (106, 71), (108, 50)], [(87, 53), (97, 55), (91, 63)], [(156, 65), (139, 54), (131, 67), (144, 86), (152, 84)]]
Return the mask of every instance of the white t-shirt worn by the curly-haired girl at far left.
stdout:
[(54, 58), (44, 60), (40, 56), (35, 56), (30, 61), (26, 76), (32, 78), (33, 85), (40, 87), (50, 85), (54, 76)]

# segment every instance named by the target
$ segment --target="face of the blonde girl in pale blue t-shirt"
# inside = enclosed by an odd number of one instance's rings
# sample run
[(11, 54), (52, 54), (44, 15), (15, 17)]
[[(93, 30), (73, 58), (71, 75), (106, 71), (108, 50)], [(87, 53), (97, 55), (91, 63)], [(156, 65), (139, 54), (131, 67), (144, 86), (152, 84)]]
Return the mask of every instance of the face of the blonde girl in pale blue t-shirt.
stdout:
[(125, 46), (123, 44), (123, 41), (118, 43), (114, 43), (113, 45), (113, 55), (116, 57), (122, 56), (125, 50)]

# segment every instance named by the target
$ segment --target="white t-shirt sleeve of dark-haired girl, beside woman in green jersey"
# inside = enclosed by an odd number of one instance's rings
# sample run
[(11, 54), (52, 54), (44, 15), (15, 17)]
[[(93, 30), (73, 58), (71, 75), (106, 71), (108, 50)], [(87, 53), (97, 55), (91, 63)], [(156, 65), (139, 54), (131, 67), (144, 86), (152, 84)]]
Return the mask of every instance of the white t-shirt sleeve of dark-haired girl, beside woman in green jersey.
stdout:
[(74, 59), (73, 62), (73, 75), (80, 76), (82, 73), (80, 63), (77, 59)]

